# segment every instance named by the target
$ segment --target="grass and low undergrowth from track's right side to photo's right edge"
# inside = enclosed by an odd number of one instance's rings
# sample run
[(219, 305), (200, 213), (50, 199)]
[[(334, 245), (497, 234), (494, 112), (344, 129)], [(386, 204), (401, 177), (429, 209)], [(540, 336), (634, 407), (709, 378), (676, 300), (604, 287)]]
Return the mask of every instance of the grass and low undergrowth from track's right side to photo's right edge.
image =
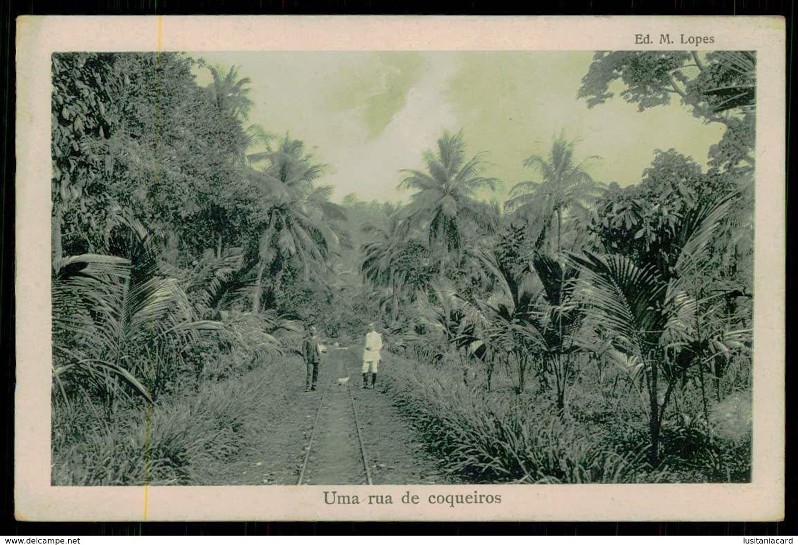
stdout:
[[(577, 381), (567, 412), (551, 392), (516, 396), (465, 384), (448, 364), (398, 360), (389, 392), (444, 469), (474, 482), (658, 483), (750, 479), (750, 405), (742, 394), (713, 408), (709, 426), (671, 413), (662, 463), (651, 467), (646, 417), (619, 392)], [(605, 392), (606, 393), (606, 392)], [(619, 407), (620, 406), (620, 407)]]

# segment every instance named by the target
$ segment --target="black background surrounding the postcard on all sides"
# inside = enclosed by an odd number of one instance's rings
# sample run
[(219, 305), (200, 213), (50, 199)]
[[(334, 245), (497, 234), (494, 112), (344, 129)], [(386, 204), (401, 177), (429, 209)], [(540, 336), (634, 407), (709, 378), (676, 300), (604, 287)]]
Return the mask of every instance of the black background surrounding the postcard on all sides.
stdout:
[[(796, 509), (795, 342), (787, 343), (787, 463), (785, 520), (781, 523), (26, 523), (14, 520), (14, 19), (24, 14), (634, 14), (783, 15), (787, 20), (788, 202), (796, 196), (792, 151), (792, 1), (785, 0), (0, 0), (0, 100), (2, 100), (2, 185), (0, 185), (0, 396), (3, 465), (0, 468), (2, 522), (6, 535), (798, 535)], [(791, 176), (792, 174), (792, 176)], [(788, 222), (789, 224), (790, 222)], [(794, 229), (792, 230), (794, 231)], [(788, 230), (787, 248), (796, 248)], [(792, 323), (795, 259), (787, 254), (787, 320)], [(25, 304), (25, 301), (16, 301)], [(788, 325), (789, 331), (789, 325)], [(697, 498), (701, 501), (700, 498)], [(585, 513), (586, 518), (590, 516)]]

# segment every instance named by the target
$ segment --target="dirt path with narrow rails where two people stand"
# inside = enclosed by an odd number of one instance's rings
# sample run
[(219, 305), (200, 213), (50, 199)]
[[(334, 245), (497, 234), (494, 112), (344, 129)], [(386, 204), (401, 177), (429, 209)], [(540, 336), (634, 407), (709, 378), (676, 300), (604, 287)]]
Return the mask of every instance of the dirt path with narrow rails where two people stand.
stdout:
[(349, 387), (337, 384), (338, 378), (346, 376), (350, 377), (373, 483), (446, 482), (435, 461), (425, 455), (410, 423), (381, 389), (380, 378), (390, 372), (390, 360), (381, 365), (377, 388), (364, 390), (359, 351), (330, 348), (319, 369), (316, 392), (303, 391), (304, 366), (290, 366), (284, 402), (277, 412), (254, 416), (265, 420), (263, 437), (255, 441), (251, 452), (231, 462), (230, 479), (225, 484), (296, 484), (326, 388), (302, 483), (365, 484)]

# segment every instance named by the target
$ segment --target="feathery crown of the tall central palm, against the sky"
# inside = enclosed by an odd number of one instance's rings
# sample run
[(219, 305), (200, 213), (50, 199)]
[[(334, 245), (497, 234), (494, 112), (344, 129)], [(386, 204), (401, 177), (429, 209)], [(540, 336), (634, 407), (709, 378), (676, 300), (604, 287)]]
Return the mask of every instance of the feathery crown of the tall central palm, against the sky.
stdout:
[(437, 142), (437, 153), (427, 151), (428, 172), (404, 170), (402, 189), (417, 189), (407, 207), (407, 221), (427, 231), (430, 248), (445, 253), (460, 253), (464, 237), (473, 230), (496, 229), (491, 206), (476, 195), (480, 189), (495, 190), (497, 180), (482, 176), (483, 154), (465, 160), (462, 133), (448, 131)]

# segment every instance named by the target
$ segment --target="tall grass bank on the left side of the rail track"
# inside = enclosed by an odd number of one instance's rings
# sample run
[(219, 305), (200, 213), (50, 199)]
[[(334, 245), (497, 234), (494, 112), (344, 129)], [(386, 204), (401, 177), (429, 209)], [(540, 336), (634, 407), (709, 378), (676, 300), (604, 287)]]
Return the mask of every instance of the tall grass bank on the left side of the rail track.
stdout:
[(88, 397), (55, 404), (53, 484), (219, 484), (225, 463), (263, 435), (263, 415), (285, 406), (284, 371), (296, 365), (281, 358), (112, 420)]

